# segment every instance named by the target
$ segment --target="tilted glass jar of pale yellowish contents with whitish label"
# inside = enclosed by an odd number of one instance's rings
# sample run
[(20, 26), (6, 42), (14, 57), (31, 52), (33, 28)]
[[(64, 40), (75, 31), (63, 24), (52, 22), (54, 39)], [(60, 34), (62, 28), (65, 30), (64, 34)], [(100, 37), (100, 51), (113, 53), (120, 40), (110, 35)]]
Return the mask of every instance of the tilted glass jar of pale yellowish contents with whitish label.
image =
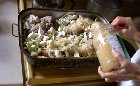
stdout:
[(119, 67), (117, 59), (112, 55), (112, 50), (118, 51), (125, 57), (120, 42), (110, 24), (95, 22), (91, 26), (93, 45), (100, 65), (104, 72), (109, 72)]

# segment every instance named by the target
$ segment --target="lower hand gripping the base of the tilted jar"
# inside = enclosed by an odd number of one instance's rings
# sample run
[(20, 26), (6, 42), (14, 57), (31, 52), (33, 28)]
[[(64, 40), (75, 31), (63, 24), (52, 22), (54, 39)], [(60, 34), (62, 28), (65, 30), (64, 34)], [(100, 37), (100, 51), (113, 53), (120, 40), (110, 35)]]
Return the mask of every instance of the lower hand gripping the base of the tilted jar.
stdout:
[(98, 73), (105, 79), (106, 82), (122, 81), (122, 80), (140, 80), (140, 66), (131, 63), (129, 60), (122, 57), (116, 51), (112, 51), (115, 58), (117, 58), (120, 68), (111, 72), (103, 72), (101, 66), (98, 68)]

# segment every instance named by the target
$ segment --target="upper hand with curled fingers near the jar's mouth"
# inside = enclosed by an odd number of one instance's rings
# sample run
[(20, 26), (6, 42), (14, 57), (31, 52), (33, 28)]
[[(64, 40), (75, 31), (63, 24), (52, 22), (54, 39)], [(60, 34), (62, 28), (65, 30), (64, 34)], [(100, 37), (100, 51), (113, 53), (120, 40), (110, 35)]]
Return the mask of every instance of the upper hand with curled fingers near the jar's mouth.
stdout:
[(140, 32), (136, 28), (131, 17), (116, 17), (112, 23), (114, 29), (123, 33), (126, 37), (132, 38), (140, 42)]

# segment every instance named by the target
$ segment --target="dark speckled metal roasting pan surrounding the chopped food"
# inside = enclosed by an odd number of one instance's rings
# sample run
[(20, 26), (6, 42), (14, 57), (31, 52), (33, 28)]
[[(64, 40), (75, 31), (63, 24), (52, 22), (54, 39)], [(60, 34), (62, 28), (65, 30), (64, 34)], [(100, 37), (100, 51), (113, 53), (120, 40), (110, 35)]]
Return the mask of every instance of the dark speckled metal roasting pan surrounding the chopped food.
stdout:
[[(25, 54), (29, 64), (35, 67), (60, 67), (60, 68), (75, 68), (75, 67), (97, 67), (99, 62), (97, 57), (80, 57), (80, 58), (38, 58), (30, 56), (27, 49), (24, 49), (25, 38), (27, 37), (27, 30), (24, 29), (24, 20), (27, 16), (33, 14), (38, 17), (52, 16), (55, 20), (62, 17), (68, 12), (75, 12), (77, 15), (83, 15), (91, 19), (98, 19), (102, 23), (108, 23), (107, 19), (103, 16), (100, 16), (97, 13), (90, 11), (82, 10), (52, 10), (52, 9), (40, 9), (40, 8), (28, 8), (19, 13), (18, 16), (18, 37), (19, 37), (19, 46), (21, 51)], [(57, 24), (55, 27), (57, 28)]]

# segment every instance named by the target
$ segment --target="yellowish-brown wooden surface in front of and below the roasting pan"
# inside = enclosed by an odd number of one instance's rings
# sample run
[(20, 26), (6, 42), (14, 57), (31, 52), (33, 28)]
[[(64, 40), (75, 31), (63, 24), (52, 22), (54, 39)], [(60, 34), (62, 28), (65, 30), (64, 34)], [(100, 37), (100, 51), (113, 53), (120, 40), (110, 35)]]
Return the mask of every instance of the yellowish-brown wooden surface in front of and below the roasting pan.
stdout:
[(24, 56), (26, 86), (116, 86), (100, 78), (96, 68), (34, 68)]

